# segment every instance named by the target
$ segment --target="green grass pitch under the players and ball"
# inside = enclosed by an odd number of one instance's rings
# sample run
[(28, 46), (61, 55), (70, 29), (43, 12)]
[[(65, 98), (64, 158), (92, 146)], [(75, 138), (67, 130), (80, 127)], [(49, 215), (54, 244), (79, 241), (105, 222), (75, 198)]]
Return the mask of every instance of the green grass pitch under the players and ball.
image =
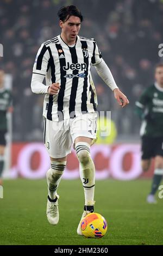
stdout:
[(95, 212), (108, 222), (102, 239), (78, 236), (84, 192), (80, 180), (62, 180), (60, 221), (46, 219), (46, 180), (5, 180), (0, 199), (0, 245), (163, 245), (163, 199), (146, 203), (150, 180), (96, 181)]

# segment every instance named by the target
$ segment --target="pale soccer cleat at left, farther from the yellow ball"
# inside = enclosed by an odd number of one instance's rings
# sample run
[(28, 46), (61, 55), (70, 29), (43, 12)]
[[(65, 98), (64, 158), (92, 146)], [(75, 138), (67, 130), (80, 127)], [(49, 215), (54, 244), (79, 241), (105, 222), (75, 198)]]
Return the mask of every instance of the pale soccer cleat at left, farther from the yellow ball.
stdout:
[(49, 201), (49, 199), (47, 200), (46, 215), (47, 215), (48, 222), (52, 225), (57, 225), (59, 222), (58, 199), (59, 199), (59, 196), (57, 194), (56, 202), (51, 202)]

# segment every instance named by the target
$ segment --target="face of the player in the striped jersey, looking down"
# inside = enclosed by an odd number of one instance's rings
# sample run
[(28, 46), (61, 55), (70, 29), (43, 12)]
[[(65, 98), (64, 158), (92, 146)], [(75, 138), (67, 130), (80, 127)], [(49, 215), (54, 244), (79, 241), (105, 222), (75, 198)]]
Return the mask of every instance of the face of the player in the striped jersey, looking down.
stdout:
[(73, 44), (76, 42), (76, 38), (80, 30), (80, 24), (80, 18), (77, 16), (70, 16), (70, 18), (65, 22), (60, 21), (60, 27), (62, 29), (61, 35), (64, 36), (63, 40), (66, 40), (66, 43)]

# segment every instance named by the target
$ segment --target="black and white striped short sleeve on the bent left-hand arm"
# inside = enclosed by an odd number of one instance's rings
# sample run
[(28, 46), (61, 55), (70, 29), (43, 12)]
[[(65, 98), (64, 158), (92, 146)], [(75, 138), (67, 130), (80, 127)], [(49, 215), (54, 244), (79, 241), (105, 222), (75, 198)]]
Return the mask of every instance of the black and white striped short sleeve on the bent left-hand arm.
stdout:
[(48, 48), (42, 44), (36, 55), (35, 63), (33, 66), (33, 74), (40, 74), (45, 76), (48, 68), (49, 58), (50, 56)]

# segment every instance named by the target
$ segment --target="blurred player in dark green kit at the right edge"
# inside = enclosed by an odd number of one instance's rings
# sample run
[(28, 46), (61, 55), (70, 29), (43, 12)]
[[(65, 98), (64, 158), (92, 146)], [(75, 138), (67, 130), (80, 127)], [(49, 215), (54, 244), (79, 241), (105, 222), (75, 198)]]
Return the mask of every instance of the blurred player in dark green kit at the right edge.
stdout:
[(148, 203), (156, 203), (154, 197), (163, 174), (163, 63), (155, 68), (155, 83), (145, 89), (136, 101), (136, 112), (142, 119), (141, 165), (146, 172), (154, 157), (154, 175), (151, 192), (147, 196)]

